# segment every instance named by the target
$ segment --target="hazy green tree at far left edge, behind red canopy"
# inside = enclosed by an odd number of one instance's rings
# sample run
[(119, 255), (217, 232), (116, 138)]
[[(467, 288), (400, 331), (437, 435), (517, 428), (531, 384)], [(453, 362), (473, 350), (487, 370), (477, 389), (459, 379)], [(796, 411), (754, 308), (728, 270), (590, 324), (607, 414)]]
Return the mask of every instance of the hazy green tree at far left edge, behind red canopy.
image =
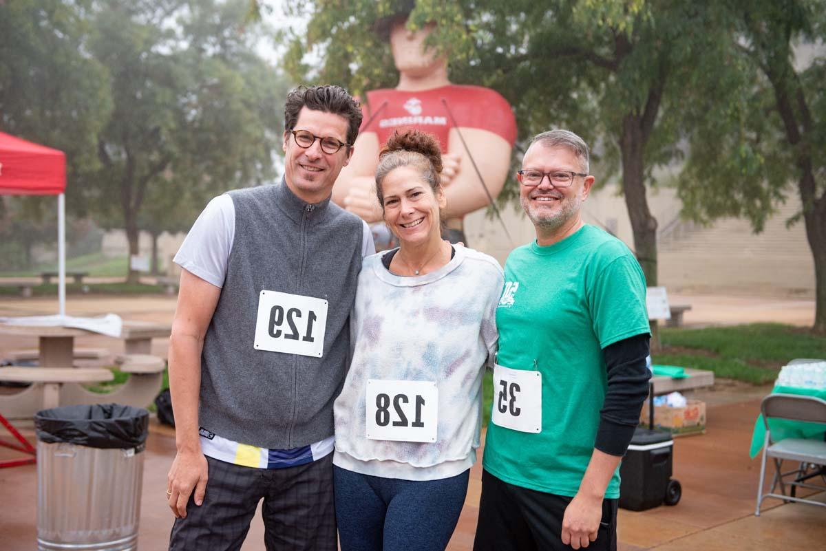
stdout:
[[(97, 169), (97, 134), (112, 111), (107, 72), (88, 55), (89, 2), (0, 2), (0, 130), (66, 153), (67, 209), (82, 210), (83, 181)], [(55, 199), (6, 197), (0, 212), (3, 256), (54, 243)], [(12, 224), (13, 222), (13, 224)], [(19, 238), (19, 240), (17, 239)]]

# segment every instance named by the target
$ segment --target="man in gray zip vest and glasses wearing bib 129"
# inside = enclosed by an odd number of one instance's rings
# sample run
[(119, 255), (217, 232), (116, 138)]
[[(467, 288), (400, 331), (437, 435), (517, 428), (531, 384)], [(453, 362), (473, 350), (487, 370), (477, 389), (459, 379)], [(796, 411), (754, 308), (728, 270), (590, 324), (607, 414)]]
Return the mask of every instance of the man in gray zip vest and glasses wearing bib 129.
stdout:
[(269, 551), (336, 549), (332, 407), (373, 238), (330, 193), (361, 120), (341, 87), (290, 92), (283, 180), (211, 200), (175, 256), (169, 549), (240, 549), (262, 499)]

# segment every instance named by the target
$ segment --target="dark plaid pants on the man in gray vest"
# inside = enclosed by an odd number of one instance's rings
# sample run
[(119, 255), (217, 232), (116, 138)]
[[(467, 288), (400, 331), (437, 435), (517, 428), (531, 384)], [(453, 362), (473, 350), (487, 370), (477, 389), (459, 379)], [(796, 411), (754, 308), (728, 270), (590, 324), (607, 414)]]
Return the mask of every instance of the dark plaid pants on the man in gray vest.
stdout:
[(237, 551), (263, 498), (267, 551), (335, 551), (333, 454), (287, 469), (253, 469), (207, 457), (201, 506), (176, 519), (169, 551)]

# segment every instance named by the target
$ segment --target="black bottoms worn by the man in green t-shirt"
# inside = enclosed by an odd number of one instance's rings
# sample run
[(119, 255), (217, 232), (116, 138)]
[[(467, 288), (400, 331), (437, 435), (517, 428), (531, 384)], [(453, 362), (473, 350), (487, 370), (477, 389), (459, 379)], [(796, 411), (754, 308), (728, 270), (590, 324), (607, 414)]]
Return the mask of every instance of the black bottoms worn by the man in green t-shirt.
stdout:
[[(482, 501), (473, 551), (563, 551), (565, 508), (572, 497), (515, 486), (482, 471)], [(596, 541), (587, 551), (616, 551), (618, 499), (602, 501)]]

